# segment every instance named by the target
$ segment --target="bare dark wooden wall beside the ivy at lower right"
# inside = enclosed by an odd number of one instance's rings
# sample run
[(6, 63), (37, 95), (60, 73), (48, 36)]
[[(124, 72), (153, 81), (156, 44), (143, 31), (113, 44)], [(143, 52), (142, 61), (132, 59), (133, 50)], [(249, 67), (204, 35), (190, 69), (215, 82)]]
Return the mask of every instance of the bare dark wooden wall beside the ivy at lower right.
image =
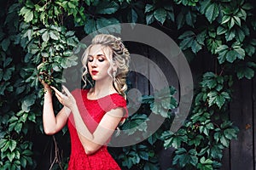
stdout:
[(223, 170), (256, 169), (256, 78), (235, 83), (230, 119), (239, 127), (237, 140), (225, 150)]

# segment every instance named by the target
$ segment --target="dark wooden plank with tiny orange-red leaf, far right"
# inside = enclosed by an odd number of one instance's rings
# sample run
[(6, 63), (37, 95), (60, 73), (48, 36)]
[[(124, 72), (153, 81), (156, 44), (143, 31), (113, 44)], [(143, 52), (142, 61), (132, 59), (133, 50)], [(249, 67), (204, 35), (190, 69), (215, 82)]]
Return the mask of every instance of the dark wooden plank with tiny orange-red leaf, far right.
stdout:
[(230, 118), (239, 127), (238, 139), (230, 144), (230, 169), (253, 170), (253, 101), (252, 82), (236, 82)]

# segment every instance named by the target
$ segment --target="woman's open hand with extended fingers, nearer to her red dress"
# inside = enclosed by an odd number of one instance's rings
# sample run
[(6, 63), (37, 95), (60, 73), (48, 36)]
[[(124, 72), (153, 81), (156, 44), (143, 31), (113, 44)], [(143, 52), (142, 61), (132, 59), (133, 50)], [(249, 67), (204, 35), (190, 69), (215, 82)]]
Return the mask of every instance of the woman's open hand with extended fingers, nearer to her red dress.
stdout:
[(62, 86), (65, 94), (62, 94), (55, 87), (51, 86), (50, 88), (52, 88), (55, 91), (55, 96), (61, 102), (62, 105), (66, 106), (70, 110), (72, 110), (72, 108), (76, 106), (76, 100), (74, 99), (73, 95), (69, 92), (69, 90), (65, 86)]

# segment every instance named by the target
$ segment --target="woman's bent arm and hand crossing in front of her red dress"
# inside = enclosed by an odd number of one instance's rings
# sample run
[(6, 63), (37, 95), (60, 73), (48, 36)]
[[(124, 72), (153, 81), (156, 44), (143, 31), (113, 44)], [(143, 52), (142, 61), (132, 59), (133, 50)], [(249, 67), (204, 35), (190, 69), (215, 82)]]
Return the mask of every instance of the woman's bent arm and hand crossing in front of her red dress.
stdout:
[(95, 132), (90, 133), (88, 127), (86, 127), (80, 116), (75, 99), (73, 99), (72, 94), (70, 94), (67, 88), (63, 87), (67, 95), (61, 94), (56, 88), (53, 89), (61, 104), (67, 106), (67, 108), (73, 112), (75, 127), (79, 134), (81, 144), (83, 144), (85, 153), (90, 155), (96, 152), (96, 150), (99, 150), (103, 144), (106, 144), (116, 127), (119, 125), (122, 116), (124, 116), (124, 110), (122, 108), (117, 108), (108, 111), (108, 113), (102, 117), (102, 121), (96, 127)]

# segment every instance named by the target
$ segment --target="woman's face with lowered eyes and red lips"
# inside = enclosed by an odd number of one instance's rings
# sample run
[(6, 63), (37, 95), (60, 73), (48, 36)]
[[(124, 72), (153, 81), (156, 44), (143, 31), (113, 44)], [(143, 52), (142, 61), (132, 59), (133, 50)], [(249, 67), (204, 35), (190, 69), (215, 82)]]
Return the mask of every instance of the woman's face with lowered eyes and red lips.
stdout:
[(88, 54), (88, 70), (93, 80), (99, 81), (109, 78), (108, 69), (110, 67), (109, 57), (102, 50), (102, 45), (96, 44), (90, 48)]

